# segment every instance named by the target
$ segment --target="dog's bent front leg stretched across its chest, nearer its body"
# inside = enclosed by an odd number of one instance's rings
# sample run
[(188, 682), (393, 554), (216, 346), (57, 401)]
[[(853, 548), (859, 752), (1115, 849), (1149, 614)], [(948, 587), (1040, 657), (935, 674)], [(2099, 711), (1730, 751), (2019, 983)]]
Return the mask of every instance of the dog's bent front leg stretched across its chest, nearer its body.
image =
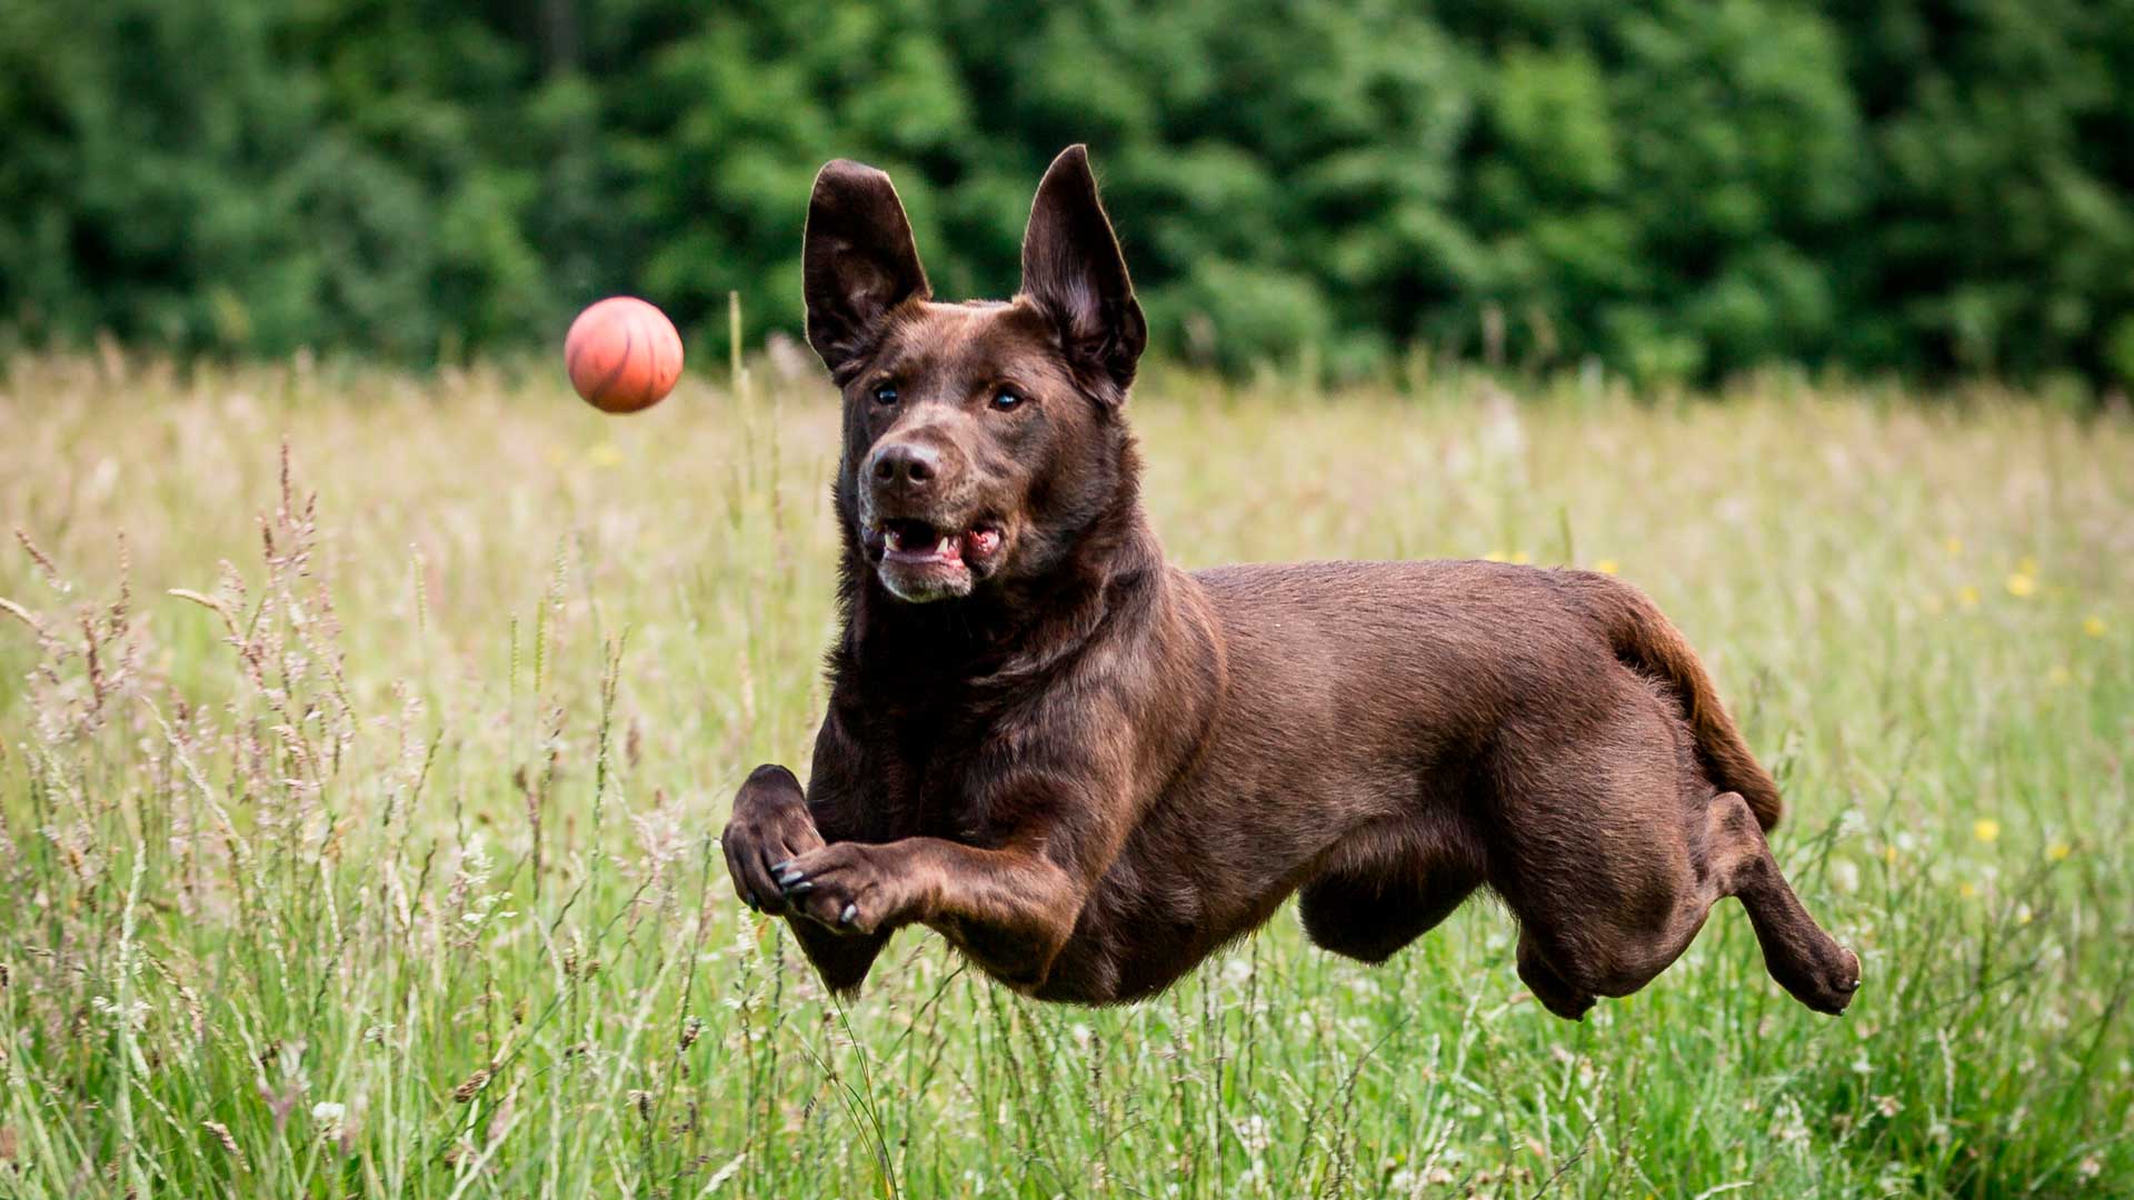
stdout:
[(839, 841), (777, 867), (785, 899), (822, 929), (879, 937), (930, 925), (988, 974), (1037, 986), (1052, 972), (1086, 886), (1035, 850), (939, 837)]

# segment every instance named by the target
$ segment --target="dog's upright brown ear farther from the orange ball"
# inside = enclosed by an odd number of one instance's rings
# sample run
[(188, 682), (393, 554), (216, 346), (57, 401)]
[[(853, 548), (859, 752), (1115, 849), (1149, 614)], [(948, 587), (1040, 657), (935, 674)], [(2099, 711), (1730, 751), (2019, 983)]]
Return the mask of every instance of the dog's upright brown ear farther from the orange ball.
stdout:
[(1052, 160), (1031, 226), (1022, 235), (1022, 295), (1061, 329), (1069, 359), (1127, 395), (1148, 346), (1148, 320), (1133, 299), (1127, 258), (1097, 201), (1088, 147), (1069, 145)]

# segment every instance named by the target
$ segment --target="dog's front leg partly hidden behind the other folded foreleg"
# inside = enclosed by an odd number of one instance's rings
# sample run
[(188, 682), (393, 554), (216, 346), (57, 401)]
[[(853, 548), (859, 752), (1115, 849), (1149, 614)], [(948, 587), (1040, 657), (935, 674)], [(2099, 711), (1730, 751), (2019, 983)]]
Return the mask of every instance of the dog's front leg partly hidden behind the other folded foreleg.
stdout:
[[(817, 818), (830, 820), (830, 828), (819, 828)], [(824, 929), (785, 901), (785, 893), (770, 871), (775, 863), (794, 854), (819, 850), (824, 833), (843, 833), (837, 828), (834, 807), (822, 805), (819, 811), (811, 811), (794, 773), (764, 764), (734, 796), (734, 816), (728, 820), (726, 833), (719, 835), (719, 846), (726, 850), (726, 869), (734, 878), (734, 893), (743, 903), (758, 912), (785, 916), (822, 982), (830, 991), (851, 993), (875, 965), (875, 957), (890, 940), (888, 931), (839, 935)]]

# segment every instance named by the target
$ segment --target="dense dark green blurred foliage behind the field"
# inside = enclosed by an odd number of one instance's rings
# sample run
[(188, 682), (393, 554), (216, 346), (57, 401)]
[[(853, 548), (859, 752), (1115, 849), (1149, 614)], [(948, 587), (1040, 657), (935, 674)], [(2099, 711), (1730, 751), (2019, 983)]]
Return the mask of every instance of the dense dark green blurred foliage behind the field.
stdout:
[(0, 325), (792, 329), (837, 154), (999, 295), (1069, 141), (1159, 335), (1227, 365), (2134, 380), (2134, 0), (0, 0)]

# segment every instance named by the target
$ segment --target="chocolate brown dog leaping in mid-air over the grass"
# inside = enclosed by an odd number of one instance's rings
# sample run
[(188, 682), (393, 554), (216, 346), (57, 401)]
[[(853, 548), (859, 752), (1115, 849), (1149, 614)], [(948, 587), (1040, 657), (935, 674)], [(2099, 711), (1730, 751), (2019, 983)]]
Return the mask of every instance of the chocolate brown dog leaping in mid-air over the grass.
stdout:
[(935, 303), (856, 162), (815, 179), (805, 271), (845, 404), (843, 634), (809, 788), (755, 769), (723, 841), (832, 989), (928, 925), (1029, 995), (1140, 999), (1295, 890), (1312, 942), (1376, 963), (1490, 886), (1560, 1016), (1645, 986), (1720, 897), (1786, 991), (1852, 999), (1765, 846), (1778, 788), (1637, 589), (1165, 566), (1125, 421), (1146, 325), (1082, 147), (1014, 301)]

